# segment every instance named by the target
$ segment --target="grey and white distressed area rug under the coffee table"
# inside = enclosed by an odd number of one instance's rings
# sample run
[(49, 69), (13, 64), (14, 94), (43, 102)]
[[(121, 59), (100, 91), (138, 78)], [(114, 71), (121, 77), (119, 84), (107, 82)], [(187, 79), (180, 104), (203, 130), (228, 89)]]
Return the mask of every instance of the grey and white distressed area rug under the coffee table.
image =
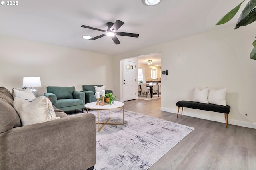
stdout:
[[(97, 120), (97, 111), (90, 113)], [(99, 115), (104, 122), (109, 111)], [(122, 109), (111, 110), (110, 121), (122, 123)], [(124, 125), (105, 125), (100, 132), (96, 125), (95, 130), (95, 170), (146, 170), (194, 128), (125, 110)]]

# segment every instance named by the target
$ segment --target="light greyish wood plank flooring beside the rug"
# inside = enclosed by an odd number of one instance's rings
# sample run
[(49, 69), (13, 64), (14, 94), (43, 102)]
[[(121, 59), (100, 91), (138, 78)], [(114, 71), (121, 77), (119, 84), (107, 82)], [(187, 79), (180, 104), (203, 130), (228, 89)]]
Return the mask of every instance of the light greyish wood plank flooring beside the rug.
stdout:
[[(149, 170), (256, 170), (256, 129), (160, 111), (161, 99), (124, 102), (124, 109), (194, 127)], [(220, 113), (221, 114), (221, 113)], [(224, 115), (223, 115), (224, 117)]]

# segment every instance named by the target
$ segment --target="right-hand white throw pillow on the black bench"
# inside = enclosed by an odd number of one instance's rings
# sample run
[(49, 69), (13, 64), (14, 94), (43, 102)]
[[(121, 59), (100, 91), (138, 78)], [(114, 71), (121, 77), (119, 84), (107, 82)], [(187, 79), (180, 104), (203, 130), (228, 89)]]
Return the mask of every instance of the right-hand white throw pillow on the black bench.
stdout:
[(208, 90), (208, 102), (215, 105), (223, 105), (226, 106), (226, 91), (227, 88), (223, 89), (212, 89), (209, 88)]

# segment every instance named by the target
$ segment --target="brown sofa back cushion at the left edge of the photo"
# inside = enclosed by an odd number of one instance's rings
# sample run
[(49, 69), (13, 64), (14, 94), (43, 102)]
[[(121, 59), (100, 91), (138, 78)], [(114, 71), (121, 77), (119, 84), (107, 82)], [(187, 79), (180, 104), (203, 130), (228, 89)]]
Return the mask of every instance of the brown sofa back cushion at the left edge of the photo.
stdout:
[(20, 117), (13, 107), (12, 94), (6, 88), (0, 87), (0, 133), (20, 126)]

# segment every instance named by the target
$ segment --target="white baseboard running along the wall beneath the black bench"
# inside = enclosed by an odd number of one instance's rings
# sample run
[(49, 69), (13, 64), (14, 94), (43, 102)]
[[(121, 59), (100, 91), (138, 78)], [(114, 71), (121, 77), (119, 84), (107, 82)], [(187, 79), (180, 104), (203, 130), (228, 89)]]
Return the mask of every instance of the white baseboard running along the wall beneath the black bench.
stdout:
[[(169, 108), (161, 107), (161, 111), (166, 111), (166, 112), (177, 114), (178, 109), (169, 109)], [(181, 115), (181, 109), (179, 111), (179, 115)], [(209, 121), (216, 121), (216, 122), (226, 123), (224, 114), (223, 114), (223, 119), (220, 118), (220, 117), (212, 117), (212, 116), (208, 116), (208, 115), (201, 115), (201, 114), (191, 113), (191, 112), (187, 112), (187, 111), (183, 111), (182, 115), (190, 116), (190, 117), (196, 117), (196, 118), (200, 118), (200, 119), (206, 119), (206, 120), (209, 120)], [(237, 125), (237, 126), (241, 126), (241, 127), (248, 127), (248, 128), (256, 129), (256, 124), (255, 123), (237, 121), (237, 120), (233, 120), (233, 119), (228, 119), (228, 123), (231, 124), (231, 125)]]

